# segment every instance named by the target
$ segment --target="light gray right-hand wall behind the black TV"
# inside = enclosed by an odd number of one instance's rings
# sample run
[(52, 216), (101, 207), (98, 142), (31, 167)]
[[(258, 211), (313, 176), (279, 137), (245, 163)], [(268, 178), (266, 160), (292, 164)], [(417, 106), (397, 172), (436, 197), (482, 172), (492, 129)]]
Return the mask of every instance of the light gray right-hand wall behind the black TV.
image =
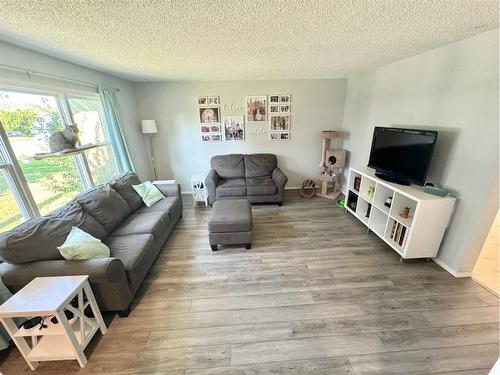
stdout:
[(498, 210), (498, 30), (349, 77), (343, 129), (366, 165), (373, 127), (439, 131), (428, 181), (457, 197), (439, 261), (468, 274)]

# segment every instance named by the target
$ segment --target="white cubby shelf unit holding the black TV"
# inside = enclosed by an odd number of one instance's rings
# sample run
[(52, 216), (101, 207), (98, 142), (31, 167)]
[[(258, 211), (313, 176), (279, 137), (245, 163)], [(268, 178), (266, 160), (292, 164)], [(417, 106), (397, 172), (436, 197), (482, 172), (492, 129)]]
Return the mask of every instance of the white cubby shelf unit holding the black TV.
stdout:
[[(352, 213), (404, 259), (434, 258), (453, 212), (455, 198), (397, 185), (369, 168), (351, 168), (346, 211)], [(401, 215), (409, 211), (406, 215)]]

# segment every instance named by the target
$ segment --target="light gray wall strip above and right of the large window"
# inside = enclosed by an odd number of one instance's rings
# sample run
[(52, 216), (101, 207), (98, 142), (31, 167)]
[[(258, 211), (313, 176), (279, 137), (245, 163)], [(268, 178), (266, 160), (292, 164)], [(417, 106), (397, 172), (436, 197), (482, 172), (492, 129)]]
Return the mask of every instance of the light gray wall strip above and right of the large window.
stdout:
[[(139, 115), (133, 82), (111, 76), (109, 74), (71, 64), (38, 52), (13, 46), (0, 41), (0, 64), (19, 68), (56, 74), (65, 78), (107, 85), (120, 89), (119, 100), (125, 138), (137, 174), (142, 178), (150, 178), (149, 159), (145, 152), (143, 137), (139, 127)], [(35, 88), (91, 90), (89, 87), (59, 80), (44, 79), (33, 75), (31, 80), (26, 75), (0, 67), (0, 84), (31, 86)]]

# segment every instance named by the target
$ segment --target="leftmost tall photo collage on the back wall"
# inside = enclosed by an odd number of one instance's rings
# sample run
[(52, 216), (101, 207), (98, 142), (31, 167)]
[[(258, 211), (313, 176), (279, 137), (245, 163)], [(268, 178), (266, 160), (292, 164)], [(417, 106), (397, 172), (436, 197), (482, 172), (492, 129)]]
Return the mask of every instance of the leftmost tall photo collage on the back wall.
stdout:
[(218, 96), (199, 96), (198, 113), (202, 142), (222, 140), (220, 99)]

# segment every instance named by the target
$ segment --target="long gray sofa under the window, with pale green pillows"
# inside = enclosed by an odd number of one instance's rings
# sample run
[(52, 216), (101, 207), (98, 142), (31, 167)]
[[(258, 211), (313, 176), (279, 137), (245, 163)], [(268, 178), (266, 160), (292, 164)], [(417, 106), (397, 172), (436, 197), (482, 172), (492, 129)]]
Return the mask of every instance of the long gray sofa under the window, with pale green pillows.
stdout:
[[(146, 207), (134, 173), (79, 194), (47, 216), (0, 233), (0, 275), (16, 292), (38, 276), (89, 275), (101, 310), (128, 315), (134, 294), (182, 216), (180, 187), (157, 185), (165, 199)], [(107, 244), (110, 258), (65, 260), (57, 246), (72, 226)]]

